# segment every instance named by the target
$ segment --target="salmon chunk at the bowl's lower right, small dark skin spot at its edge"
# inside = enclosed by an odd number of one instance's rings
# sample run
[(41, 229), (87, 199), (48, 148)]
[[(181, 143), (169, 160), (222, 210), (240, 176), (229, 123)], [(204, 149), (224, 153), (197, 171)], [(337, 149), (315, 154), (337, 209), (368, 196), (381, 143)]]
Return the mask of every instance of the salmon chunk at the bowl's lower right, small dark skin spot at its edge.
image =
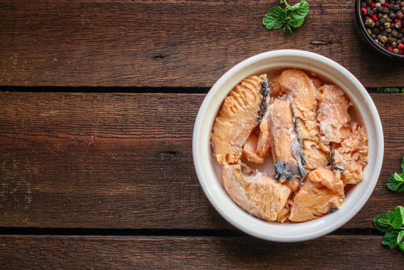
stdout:
[(323, 216), (339, 209), (344, 198), (339, 171), (334, 173), (329, 167), (312, 170), (290, 202), (289, 220), (300, 222)]

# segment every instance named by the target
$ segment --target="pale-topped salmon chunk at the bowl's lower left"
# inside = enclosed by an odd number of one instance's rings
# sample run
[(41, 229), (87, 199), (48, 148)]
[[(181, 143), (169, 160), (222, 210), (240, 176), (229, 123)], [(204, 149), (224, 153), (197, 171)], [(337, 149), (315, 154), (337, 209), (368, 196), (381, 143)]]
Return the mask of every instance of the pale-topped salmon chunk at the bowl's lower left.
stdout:
[(222, 182), (238, 206), (264, 220), (277, 220), (290, 195), (288, 187), (244, 163), (222, 166)]

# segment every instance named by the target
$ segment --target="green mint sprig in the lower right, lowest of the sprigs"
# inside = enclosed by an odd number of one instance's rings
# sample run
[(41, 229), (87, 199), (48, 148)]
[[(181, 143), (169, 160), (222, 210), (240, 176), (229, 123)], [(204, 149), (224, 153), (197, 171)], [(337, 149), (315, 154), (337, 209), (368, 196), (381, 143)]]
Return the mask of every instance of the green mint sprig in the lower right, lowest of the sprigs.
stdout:
[(398, 246), (400, 250), (404, 251), (404, 240), (402, 240), (404, 237), (404, 207), (397, 206), (392, 211), (375, 216), (373, 224), (377, 230), (386, 233), (383, 237), (383, 245), (390, 248)]

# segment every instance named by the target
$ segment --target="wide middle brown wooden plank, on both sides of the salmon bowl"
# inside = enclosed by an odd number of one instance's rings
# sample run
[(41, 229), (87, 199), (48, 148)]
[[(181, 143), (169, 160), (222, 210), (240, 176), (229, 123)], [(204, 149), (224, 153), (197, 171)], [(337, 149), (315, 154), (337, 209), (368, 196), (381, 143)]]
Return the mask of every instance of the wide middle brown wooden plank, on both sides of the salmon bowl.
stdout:
[[(0, 227), (232, 228), (191, 152), (201, 94), (0, 93)], [(404, 152), (403, 95), (373, 94), (385, 136), (379, 182), (344, 228), (403, 202), (385, 179)]]

